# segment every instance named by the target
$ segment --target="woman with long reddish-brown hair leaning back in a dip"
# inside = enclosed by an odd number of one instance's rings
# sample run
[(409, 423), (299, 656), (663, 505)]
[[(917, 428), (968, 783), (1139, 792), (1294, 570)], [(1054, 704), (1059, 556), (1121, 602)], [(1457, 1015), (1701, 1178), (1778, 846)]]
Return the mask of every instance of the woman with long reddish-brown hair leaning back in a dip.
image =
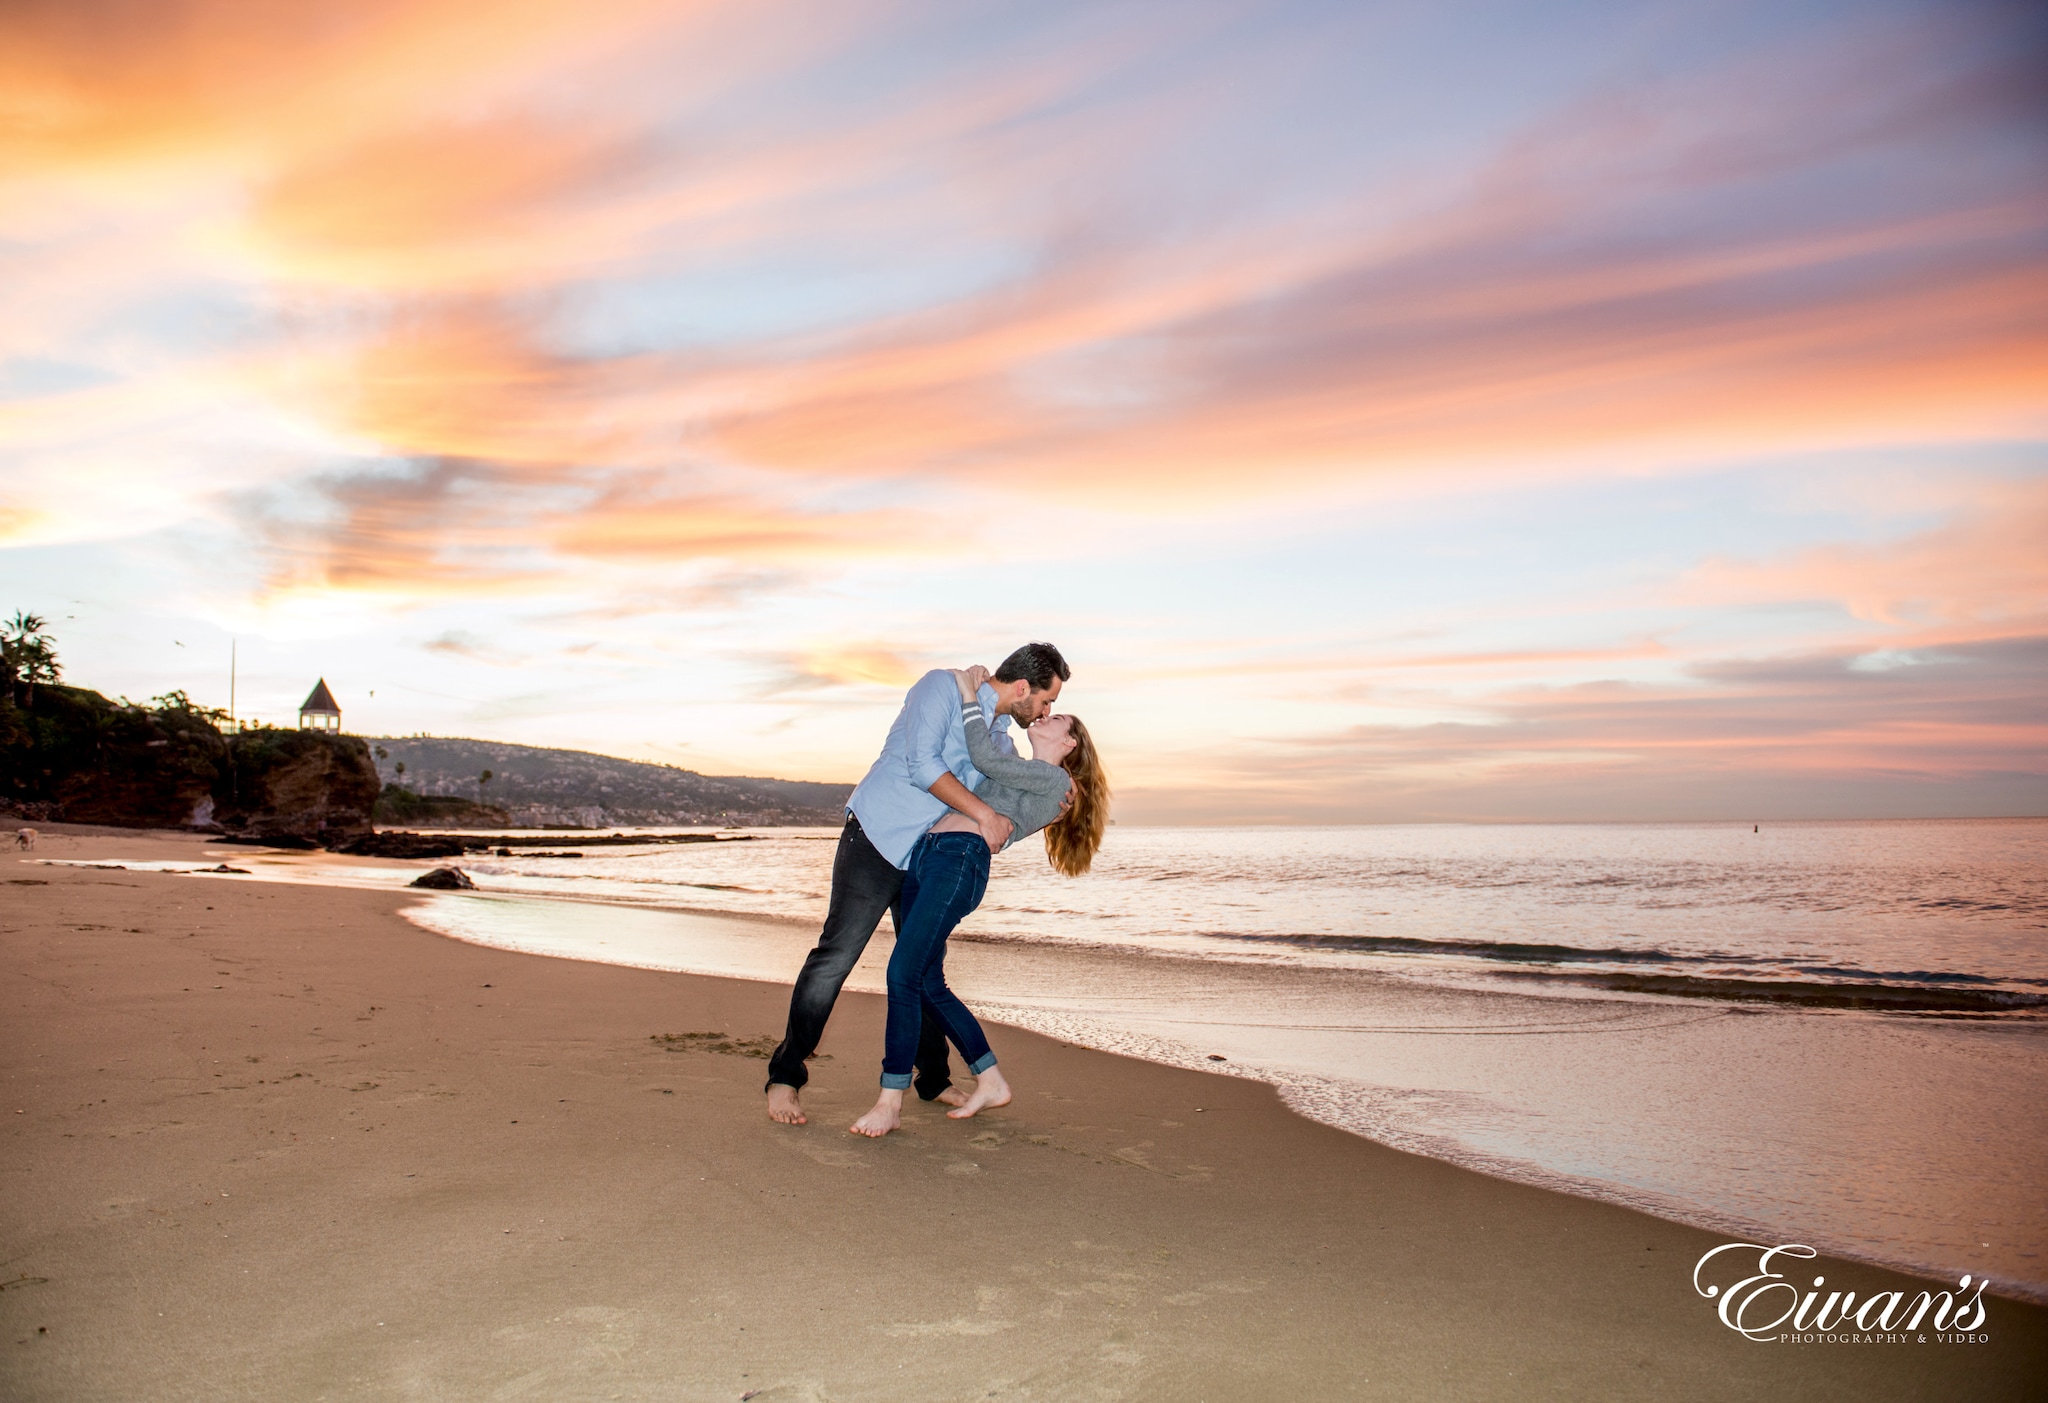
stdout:
[[(1006, 756), (981, 719), (979, 690), (987, 668), (954, 672), (961, 686), (961, 725), (967, 754), (987, 776), (975, 797), (1014, 823), (1006, 848), (1044, 830), (1044, 854), (1067, 877), (1096, 860), (1110, 817), (1110, 784), (1096, 743), (1079, 717), (1040, 717), (1026, 727), (1032, 758)], [(1071, 799), (1069, 799), (1071, 797)], [(883, 1038), (883, 1094), (874, 1110), (854, 1122), (856, 1135), (889, 1135), (903, 1122), (903, 1092), (918, 1057), (918, 1028), (938, 1018), (967, 1069), (975, 1094), (946, 1114), (973, 1116), (983, 1106), (1008, 1106), (1010, 1083), (995, 1069), (995, 1053), (958, 995), (946, 987), (946, 936), (981, 905), (989, 887), (991, 850), (975, 821), (948, 809), (909, 850), (903, 873), (903, 928), (889, 956), (889, 1032)]]

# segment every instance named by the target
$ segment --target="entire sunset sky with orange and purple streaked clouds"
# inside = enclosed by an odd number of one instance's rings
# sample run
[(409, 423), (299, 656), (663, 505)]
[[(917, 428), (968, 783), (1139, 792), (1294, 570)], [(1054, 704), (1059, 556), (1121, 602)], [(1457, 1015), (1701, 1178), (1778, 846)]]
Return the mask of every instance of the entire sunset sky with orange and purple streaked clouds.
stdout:
[(2048, 813), (2036, 4), (0, 10), (66, 680), (1122, 821)]

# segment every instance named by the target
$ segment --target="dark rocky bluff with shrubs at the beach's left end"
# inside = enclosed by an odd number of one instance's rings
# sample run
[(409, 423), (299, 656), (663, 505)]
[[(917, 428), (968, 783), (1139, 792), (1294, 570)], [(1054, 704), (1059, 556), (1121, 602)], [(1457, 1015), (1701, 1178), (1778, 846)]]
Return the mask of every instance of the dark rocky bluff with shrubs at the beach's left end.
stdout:
[(0, 703), (0, 803), (43, 819), (309, 848), (367, 834), (377, 789), (369, 746), (354, 735), (221, 735), (207, 713), (78, 686), (39, 686), (25, 707)]

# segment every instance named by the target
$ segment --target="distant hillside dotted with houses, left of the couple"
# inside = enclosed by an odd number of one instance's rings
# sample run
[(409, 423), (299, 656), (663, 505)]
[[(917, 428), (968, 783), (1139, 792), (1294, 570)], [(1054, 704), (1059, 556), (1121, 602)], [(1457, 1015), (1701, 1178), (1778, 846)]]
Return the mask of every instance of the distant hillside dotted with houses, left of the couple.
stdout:
[[(586, 750), (440, 735), (385, 735), (369, 743), (377, 774), (387, 784), (426, 797), (481, 799), (504, 809), (512, 827), (836, 827), (846, 817), (846, 797), (854, 793), (852, 784), (698, 774)], [(479, 786), (483, 770), (492, 772), (492, 780)]]

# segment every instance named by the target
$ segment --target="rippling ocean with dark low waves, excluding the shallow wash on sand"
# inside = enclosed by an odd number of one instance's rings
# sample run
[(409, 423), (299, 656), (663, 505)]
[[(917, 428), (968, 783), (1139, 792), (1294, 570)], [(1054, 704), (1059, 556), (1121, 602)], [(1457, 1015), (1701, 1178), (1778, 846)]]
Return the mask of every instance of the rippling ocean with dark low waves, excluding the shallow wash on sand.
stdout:
[[(819, 920), (827, 830), (492, 858), (494, 887)], [(563, 840), (573, 848), (573, 838)], [(2048, 1012), (2048, 821), (1116, 827), (995, 862), (967, 938), (1972, 1016)]]

